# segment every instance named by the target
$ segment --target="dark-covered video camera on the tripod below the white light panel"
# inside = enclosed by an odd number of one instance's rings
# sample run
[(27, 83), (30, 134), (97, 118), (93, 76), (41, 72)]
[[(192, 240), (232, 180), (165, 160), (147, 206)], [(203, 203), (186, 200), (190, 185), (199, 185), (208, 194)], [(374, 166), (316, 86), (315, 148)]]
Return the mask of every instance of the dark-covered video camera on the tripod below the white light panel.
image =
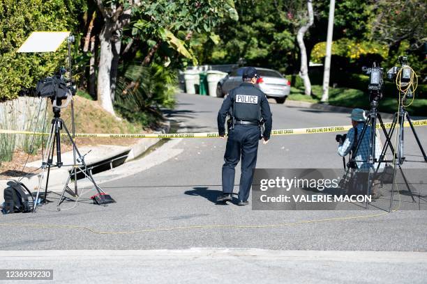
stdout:
[[(73, 81), (63, 77), (66, 72), (67, 70), (61, 67), (54, 76), (40, 79), (37, 82), (36, 95), (38, 97), (50, 97), (53, 107), (66, 108), (77, 90)], [(65, 104), (62, 104), (63, 100), (66, 100)]]

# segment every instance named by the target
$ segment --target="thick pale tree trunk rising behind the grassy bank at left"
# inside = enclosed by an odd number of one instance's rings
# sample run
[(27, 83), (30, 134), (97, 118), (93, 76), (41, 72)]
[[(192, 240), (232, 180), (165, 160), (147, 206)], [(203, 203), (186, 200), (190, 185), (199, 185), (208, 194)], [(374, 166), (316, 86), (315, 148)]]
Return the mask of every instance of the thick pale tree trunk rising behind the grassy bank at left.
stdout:
[(100, 41), (100, 55), (99, 55), (99, 64), (98, 64), (98, 91), (97, 97), (98, 102), (100, 102), (101, 107), (112, 113), (115, 116), (112, 97), (111, 97), (111, 65), (113, 60), (112, 53), (112, 42), (111, 42), (111, 33), (110, 26), (112, 23), (110, 21), (105, 21), (103, 30), (99, 35)]

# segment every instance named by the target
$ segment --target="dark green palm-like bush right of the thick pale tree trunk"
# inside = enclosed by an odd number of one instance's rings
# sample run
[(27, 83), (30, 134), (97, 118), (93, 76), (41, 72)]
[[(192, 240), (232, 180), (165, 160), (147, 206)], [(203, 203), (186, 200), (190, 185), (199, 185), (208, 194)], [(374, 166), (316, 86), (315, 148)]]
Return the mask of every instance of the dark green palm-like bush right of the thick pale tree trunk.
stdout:
[(150, 67), (130, 65), (117, 82), (114, 107), (130, 122), (154, 125), (162, 116), (160, 107), (174, 106), (176, 86), (174, 70), (157, 64)]

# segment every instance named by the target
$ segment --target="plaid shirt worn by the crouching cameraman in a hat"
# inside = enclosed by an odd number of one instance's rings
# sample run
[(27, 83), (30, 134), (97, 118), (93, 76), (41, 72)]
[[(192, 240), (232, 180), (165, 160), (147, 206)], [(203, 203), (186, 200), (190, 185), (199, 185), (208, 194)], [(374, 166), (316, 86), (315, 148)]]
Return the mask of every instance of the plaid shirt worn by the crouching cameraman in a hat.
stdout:
[[(366, 129), (366, 132), (364, 134), (364, 137), (361, 141), (359, 150), (357, 151), (357, 155), (354, 158), (357, 164), (357, 168), (361, 170), (369, 170), (369, 164), (368, 164), (368, 151), (369, 151), (369, 139), (370, 139), (370, 126)], [(364, 129), (364, 123), (359, 123), (357, 125), (357, 139), (359, 140), (361, 138), (361, 133)], [(350, 129), (347, 132), (347, 138), (345, 139), (343, 145), (338, 146), (338, 155), (344, 157), (345, 155), (348, 155), (350, 153), (350, 150), (352, 150), (353, 143), (357, 144), (357, 141), (354, 141), (354, 127)], [(375, 137), (375, 159), (380, 159), (381, 154), (381, 141), (380, 137), (377, 135)], [(375, 170), (378, 166), (378, 163), (375, 163), (372, 167), (373, 170)], [(384, 163), (381, 163), (380, 168), (384, 168)]]

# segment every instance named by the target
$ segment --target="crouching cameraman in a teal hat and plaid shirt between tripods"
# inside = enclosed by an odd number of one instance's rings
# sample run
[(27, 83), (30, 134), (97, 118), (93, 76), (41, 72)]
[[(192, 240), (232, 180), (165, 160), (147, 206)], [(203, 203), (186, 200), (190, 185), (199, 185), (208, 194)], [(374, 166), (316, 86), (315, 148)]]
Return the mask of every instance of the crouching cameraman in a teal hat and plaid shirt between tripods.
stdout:
[[(341, 157), (345, 157), (350, 152), (352, 152), (351, 158), (347, 166), (349, 168), (354, 168), (356, 177), (353, 180), (353, 187), (356, 186), (359, 192), (366, 192), (366, 188), (364, 191), (363, 187), (366, 186), (367, 180), (361, 178), (362, 176), (366, 177), (366, 173), (368, 171), (375, 171), (378, 163), (369, 164), (368, 163), (368, 155), (369, 155), (369, 140), (370, 140), (370, 132), (375, 131), (375, 129), (371, 129), (370, 125), (366, 125), (368, 127), (363, 137), (360, 137), (363, 129), (364, 123), (366, 121), (366, 113), (363, 109), (353, 109), (352, 115), (350, 116), (352, 119), (353, 127), (347, 132), (345, 135), (337, 135), (336, 141), (339, 142), (338, 145), (338, 155)], [(380, 159), (381, 154), (381, 142), (380, 137), (375, 133), (375, 160)], [(356, 151), (357, 141), (361, 139), (359, 150)], [(380, 164), (380, 169), (384, 168), (384, 163)], [(358, 175), (358, 173), (361, 173)], [(365, 173), (365, 174), (364, 174)], [(380, 188), (380, 180), (373, 179), (371, 192), (374, 199), (380, 198), (381, 193), (379, 191)]]

